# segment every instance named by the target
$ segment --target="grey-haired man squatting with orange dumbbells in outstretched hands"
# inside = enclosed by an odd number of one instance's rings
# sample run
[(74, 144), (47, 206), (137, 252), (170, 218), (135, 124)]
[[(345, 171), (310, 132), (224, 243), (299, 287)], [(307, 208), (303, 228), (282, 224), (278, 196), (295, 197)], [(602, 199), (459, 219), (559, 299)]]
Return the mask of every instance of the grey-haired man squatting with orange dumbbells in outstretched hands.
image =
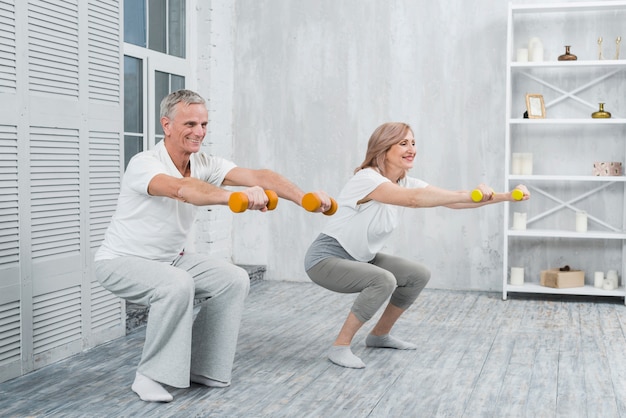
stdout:
[[(268, 195), (300, 205), (304, 192), (271, 170), (236, 166), (200, 151), (208, 111), (197, 93), (179, 90), (161, 102), (165, 138), (134, 156), (117, 209), (95, 255), (98, 281), (115, 295), (150, 306), (132, 390), (144, 401), (169, 402), (161, 385), (230, 385), (239, 324), (249, 290), (245, 270), (185, 251), (198, 206), (226, 205), (243, 186), (247, 209), (267, 210)], [(331, 199), (316, 192), (318, 212)], [(194, 299), (206, 299), (194, 320)]]

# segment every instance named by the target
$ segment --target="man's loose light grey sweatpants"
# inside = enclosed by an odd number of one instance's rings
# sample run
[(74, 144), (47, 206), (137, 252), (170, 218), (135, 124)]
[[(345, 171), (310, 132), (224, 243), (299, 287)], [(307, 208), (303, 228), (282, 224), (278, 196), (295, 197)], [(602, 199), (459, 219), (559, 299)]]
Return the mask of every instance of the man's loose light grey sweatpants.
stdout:
[[(223, 260), (185, 253), (172, 264), (138, 257), (95, 263), (113, 294), (150, 306), (137, 371), (170, 386), (189, 386), (189, 374), (230, 382), (247, 272)], [(209, 297), (193, 318), (194, 298)]]

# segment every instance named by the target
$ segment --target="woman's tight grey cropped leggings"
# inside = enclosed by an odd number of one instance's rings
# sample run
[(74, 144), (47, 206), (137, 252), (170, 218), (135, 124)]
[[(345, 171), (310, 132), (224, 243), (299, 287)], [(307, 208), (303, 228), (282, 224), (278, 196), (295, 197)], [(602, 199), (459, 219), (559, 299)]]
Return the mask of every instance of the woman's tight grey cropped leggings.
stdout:
[(391, 297), (390, 303), (407, 309), (417, 299), (430, 271), (422, 264), (378, 253), (369, 263), (328, 257), (307, 270), (318, 285), (339, 293), (359, 293), (352, 313), (367, 322)]

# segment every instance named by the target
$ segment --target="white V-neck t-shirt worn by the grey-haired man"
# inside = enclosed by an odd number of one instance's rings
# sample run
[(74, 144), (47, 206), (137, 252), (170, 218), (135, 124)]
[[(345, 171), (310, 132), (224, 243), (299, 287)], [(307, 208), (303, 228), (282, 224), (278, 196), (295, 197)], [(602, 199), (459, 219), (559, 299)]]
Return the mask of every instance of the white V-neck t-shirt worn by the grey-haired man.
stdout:
[[(220, 186), (236, 167), (204, 152), (190, 156), (191, 177)], [(123, 256), (172, 262), (184, 249), (197, 206), (176, 199), (150, 196), (148, 184), (157, 174), (182, 178), (163, 141), (135, 155), (124, 173), (115, 214), (95, 260)]]

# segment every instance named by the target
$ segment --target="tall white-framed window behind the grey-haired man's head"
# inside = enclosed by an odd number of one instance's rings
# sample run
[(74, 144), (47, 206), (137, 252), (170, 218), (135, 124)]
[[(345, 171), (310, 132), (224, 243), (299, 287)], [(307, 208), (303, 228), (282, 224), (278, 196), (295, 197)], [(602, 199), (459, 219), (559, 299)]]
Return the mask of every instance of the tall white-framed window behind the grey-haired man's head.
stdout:
[(124, 1), (124, 168), (163, 139), (161, 100), (189, 84), (188, 2)]

